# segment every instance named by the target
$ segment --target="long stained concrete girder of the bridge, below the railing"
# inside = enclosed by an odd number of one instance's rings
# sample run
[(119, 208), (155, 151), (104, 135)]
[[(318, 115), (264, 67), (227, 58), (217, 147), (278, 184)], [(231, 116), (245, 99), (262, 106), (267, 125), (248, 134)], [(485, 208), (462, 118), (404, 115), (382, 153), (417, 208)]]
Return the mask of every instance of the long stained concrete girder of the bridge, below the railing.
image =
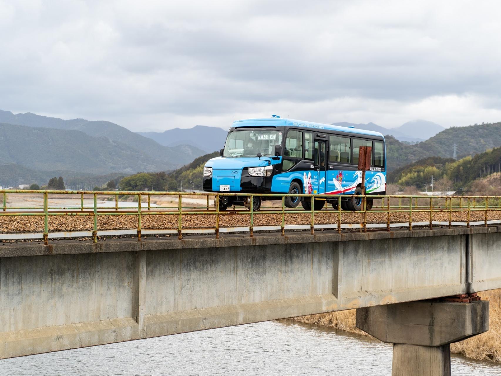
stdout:
[(499, 265), (500, 226), (10, 243), (0, 358), (501, 288)]

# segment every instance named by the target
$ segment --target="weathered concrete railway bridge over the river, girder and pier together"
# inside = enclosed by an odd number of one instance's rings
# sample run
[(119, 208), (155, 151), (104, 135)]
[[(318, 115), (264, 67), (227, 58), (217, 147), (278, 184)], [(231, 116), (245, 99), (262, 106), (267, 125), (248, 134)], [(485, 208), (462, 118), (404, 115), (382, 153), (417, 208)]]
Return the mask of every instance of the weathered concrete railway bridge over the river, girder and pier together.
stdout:
[[(96, 202), (86, 214), (94, 225)], [(51, 212), (45, 197), (42, 209), (7, 207), (4, 219), (35, 213), (45, 229), (0, 234), (12, 241), (0, 245), (0, 358), (355, 308), (358, 327), (395, 343), (393, 374), (445, 375), (449, 344), (488, 330), (488, 302), (475, 293), (501, 288), (501, 226), (483, 207), (485, 220), (469, 227), (437, 224), (433, 206), (421, 206), (430, 223), (412, 230), (364, 222), (284, 231), (282, 220), (266, 232), (188, 236), (180, 202), (177, 236), (161, 238), (141, 227), (142, 238), (51, 233), (49, 217), (85, 215), (83, 204)]]

